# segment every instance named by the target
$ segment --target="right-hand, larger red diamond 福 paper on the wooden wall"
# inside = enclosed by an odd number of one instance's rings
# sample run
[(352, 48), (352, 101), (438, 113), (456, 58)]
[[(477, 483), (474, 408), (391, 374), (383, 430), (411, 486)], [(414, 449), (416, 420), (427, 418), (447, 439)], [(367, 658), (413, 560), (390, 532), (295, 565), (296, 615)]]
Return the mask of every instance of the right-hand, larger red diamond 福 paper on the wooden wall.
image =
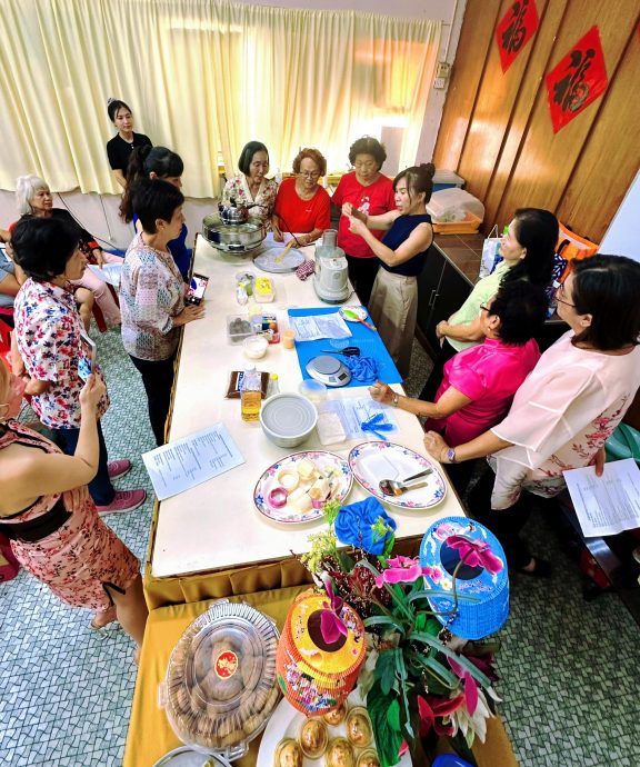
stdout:
[(547, 96), (557, 133), (607, 88), (607, 69), (598, 27), (591, 27), (547, 74)]

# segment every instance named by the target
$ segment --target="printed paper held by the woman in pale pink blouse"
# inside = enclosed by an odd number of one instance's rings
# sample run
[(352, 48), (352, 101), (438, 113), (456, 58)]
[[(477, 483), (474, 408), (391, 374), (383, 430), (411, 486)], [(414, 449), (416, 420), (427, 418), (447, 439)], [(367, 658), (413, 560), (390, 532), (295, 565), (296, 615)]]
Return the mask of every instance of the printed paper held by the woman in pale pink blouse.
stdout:
[(640, 469), (633, 458), (596, 469), (564, 471), (564, 480), (586, 538), (612, 536), (640, 527)]

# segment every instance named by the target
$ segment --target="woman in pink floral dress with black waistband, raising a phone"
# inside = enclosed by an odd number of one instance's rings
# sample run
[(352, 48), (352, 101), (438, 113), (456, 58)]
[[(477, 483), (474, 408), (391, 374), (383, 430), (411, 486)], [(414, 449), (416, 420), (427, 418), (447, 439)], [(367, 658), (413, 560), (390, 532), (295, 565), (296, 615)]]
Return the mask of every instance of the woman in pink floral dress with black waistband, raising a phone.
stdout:
[(96, 610), (93, 628), (118, 619), (142, 643), (147, 606), (140, 564), (104, 525), (87, 489), (98, 469), (98, 412), (104, 384), (89, 376), (80, 392), (76, 452), (12, 419), (23, 387), (0, 361), (0, 530), (22, 567), (68, 605)]

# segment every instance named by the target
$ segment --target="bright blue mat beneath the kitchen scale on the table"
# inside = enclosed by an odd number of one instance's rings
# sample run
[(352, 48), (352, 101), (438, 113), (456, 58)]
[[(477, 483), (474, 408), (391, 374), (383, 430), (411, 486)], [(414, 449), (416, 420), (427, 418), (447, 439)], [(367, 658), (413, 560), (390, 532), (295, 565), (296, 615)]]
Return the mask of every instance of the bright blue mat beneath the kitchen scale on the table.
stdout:
[[(309, 308), (309, 309), (289, 309), (289, 317), (311, 317), (316, 315), (330, 315), (337, 312), (339, 307), (330, 308)], [(369, 320), (370, 321), (370, 320)], [(378, 378), (384, 384), (401, 384), (402, 377), (398, 372), (398, 368), (393, 365), (391, 356), (387, 351), (382, 339), (378, 335), (377, 330), (371, 330), (370, 328), (362, 325), (362, 322), (347, 322), (349, 330), (351, 330), (351, 338), (340, 339), (340, 346), (357, 346), (360, 347), (361, 357), (371, 357), (376, 360), (378, 365)], [(296, 341), (296, 352), (298, 355), (298, 362), (300, 365), (300, 370), (302, 371), (302, 378), (311, 378), (307, 372), (307, 363), (314, 357), (331, 356), (327, 355), (327, 349), (330, 349), (332, 345), (336, 345), (336, 351), (338, 352), (339, 346), (337, 345), (337, 339), (320, 338), (317, 341)], [(343, 357), (342, 355), (336, 353), (336, 358), (341, 362), (344, 362), (349, 367), (351, 360), (357, 360), (357, 357)], [(349, 361), (348, 361), (349, 360)], [(357, 386), (369, 386), (373, 384), (371, 381), (362, 381), (351, 379), (347, 385), (348, 387)]]

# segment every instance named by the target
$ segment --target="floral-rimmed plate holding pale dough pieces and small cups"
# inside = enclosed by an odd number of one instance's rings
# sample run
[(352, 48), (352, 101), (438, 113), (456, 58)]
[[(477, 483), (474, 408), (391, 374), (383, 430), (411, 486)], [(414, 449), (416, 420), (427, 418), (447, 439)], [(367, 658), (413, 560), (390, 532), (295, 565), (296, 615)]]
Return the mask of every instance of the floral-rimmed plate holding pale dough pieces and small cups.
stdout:
[(276, 522), (284, 522), (287, 525), (301, 525), (322, 517), (321, 508), (299, 511), (289, 504), (278, 508), (269, 502), (271, 491), (281, 487), (278, 480), (279, 475), (282, 472), (297, 475), (297, 465), (302, 460), (312, 461), (316, 474), (309, 479), (300, 478), (298, 488), (309, 489), (318, 477), (322, 476), (328, 479), (330, 487), (327, 500), (343, 501), (347, 498), (353, 484), (353, 475), (344, 458), (340, 458), (340, 456), (336, 456), (327, 450), (304, 450), (302, 452), (294, 452), (292, 456), (287, 456), (287, 458), (273, 464), (260, 477), (253, 490), (253, 502), (260, 514)]

